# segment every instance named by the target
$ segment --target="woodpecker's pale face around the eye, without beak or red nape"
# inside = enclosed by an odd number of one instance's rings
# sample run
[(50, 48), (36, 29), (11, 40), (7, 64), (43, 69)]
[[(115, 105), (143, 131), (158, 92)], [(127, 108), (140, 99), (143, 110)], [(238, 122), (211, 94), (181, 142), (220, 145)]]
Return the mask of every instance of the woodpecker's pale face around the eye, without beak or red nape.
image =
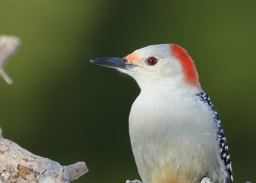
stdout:
[(183, 75), (180, 62), (172, 57), (170, 45), (151, 45), (124, 57), (134, 64), (131, 69), (118, 69), (138, 80), (159, 80), (159, 78), (180, 78)]

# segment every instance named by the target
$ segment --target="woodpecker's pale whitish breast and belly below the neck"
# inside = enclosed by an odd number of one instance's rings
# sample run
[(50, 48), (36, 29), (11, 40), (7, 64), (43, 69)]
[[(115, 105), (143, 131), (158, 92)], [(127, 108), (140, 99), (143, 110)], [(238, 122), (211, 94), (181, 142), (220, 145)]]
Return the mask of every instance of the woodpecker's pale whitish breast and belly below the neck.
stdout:
[(134, 101), (129, 133), (143, 182), (161, 182), (156, 177), (172, 179), (191, 172), (191, 177), (182, 178), (186, 182), (204, 174), (205, 164), (216, 165), (206, 161), (220, 159), (211, 112), (197, 100), (142, 94)]

